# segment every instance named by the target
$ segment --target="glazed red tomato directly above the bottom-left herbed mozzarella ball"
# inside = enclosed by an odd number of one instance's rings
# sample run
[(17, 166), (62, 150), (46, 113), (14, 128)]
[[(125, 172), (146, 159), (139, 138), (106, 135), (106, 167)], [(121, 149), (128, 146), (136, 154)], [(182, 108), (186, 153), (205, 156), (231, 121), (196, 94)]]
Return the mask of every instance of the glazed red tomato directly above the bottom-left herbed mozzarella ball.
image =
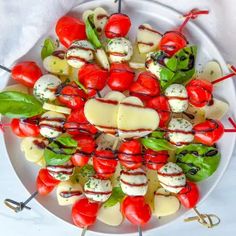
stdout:
[(93, 167), (100, 178), (108, 179), (116, 171), (117, 160), (112, 151), (96, 150), (93, 155)]

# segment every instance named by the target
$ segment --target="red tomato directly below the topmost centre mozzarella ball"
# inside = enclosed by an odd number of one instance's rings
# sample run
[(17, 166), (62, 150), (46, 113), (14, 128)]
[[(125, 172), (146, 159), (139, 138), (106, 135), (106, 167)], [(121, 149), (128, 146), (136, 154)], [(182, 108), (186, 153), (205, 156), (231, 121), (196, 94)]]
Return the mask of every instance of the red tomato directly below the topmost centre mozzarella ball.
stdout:
[(112, 63), (108, 86), (112, 90), (124, 92), (128, 90), (134, 80), (135, 73), (126, 63)]

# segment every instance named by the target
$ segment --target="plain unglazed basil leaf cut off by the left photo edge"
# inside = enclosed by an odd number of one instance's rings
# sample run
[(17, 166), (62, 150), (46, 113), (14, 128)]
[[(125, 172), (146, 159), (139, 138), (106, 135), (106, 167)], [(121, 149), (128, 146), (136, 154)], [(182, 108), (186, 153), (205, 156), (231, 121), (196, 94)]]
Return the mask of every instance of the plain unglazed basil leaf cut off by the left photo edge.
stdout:
[(0, 93), (0, 114), (10, 118), (27, 118), (43, 112), (42, 104), (32, 95), (16, 91)]

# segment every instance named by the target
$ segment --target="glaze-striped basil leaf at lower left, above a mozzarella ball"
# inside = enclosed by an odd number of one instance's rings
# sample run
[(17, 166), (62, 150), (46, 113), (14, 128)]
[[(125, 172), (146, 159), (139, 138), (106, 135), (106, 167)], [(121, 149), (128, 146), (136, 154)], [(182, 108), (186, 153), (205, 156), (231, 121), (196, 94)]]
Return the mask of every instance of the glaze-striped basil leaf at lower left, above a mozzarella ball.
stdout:
[(44, 150), (47, 165), (62, 165), (76, 152), (77, 141), (70, 136), (60, 136)]

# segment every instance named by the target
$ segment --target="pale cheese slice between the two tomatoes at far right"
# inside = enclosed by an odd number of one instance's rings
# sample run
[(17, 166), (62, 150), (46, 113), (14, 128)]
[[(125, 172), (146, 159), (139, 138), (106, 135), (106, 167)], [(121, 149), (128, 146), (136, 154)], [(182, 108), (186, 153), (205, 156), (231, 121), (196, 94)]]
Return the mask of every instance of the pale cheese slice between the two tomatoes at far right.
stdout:
[(221, 120), (229, 111), (229, 104), (214, 98), (212, 104), (205, 106), (204, 110), (207, 119)]

